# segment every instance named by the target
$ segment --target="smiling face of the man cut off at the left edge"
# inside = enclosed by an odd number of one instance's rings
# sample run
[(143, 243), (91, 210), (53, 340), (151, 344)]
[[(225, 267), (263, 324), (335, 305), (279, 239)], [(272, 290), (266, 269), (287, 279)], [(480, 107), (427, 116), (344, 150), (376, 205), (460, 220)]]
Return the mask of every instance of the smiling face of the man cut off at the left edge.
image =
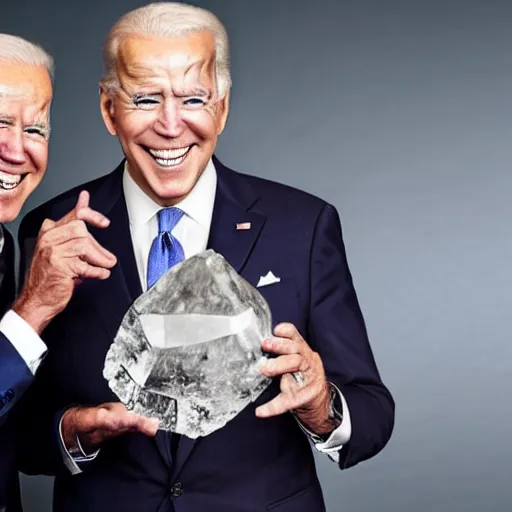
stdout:
[(48, 163), (51, 79), (43, 66), (0, 62), (0, 222), (14, 220)]

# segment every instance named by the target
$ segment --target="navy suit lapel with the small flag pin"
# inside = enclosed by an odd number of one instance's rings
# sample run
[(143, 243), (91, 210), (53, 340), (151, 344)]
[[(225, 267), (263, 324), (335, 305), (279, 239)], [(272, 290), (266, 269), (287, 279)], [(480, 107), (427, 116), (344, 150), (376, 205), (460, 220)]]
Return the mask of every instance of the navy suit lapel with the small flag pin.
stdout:
[[(214, 164), (217, 170), (217, 190), (208, 248), (222, 254), (228, 263), (241, 273), (265, 224), (265, 216), (249, 211), (257, 202), (258, 196), (247, 181), (225, 168), (215, 157)], [(237, 224), (241, 223), (245, 223), (246, 226), (250, 224), (250, 229), (237, 229)], [(181, 437), (174, 468), (175, 477), (182, 470), (200, 439)]]

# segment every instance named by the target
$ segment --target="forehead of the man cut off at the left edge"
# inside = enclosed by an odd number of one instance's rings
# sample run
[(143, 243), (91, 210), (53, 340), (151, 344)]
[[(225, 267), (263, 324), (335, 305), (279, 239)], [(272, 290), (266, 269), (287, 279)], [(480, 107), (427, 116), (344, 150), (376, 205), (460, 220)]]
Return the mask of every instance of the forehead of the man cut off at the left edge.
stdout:
[(44, 66), (0, 61), (0, 105), (22, 103), (44, 109), (52, 100), (52, 83)]

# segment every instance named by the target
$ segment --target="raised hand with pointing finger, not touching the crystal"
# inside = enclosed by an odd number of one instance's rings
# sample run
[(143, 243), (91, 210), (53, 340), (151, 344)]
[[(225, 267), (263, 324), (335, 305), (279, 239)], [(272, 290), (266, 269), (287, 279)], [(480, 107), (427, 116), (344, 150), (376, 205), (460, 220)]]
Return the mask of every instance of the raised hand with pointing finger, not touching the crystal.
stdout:
[(86, 223), (105, 228), (110, 221), (89, 208), (89, 193), (82, 191), (73, 210), (57, 222), (46, 219), (39, 230), (25, 286), (13, 306), (38, 334), (67, 306), (82, 279), (107, 279), (117, 262)]

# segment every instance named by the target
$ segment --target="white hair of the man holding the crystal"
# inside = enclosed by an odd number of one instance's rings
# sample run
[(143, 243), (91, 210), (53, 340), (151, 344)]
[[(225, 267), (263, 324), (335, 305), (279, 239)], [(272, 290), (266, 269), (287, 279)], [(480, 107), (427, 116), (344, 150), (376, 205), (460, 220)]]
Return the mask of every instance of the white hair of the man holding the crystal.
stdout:
[(119, 85), (116, 64), (123, 37), (145, 35), (165, 38), (201, 30), (208, 30), (215, 38), (215, 78), (217, 92), (223, 97), (231, 87), (226, 29), (210, 11), (177, 2), (156, 2), (139, 7), (125, 14), (110, 29), (103, 46), (105, 76), (101, 80), (102, 88), (113, 92)]

